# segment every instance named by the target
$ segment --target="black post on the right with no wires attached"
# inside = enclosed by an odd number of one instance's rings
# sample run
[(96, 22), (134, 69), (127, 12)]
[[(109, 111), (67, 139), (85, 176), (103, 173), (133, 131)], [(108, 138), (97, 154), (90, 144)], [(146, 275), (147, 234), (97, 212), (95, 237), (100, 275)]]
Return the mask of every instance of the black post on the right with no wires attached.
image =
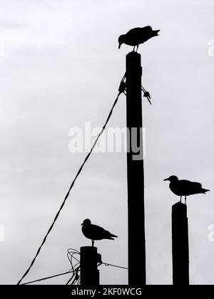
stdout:
[(172, 211), (173, 285), (189, 285), (187, 206), (178, 202)]

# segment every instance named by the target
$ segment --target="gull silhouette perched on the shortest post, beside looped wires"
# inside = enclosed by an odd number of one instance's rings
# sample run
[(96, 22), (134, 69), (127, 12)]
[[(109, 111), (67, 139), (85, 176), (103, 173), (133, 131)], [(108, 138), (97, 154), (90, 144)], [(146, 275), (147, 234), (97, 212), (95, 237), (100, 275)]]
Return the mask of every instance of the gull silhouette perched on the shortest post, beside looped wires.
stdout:
[(85, 219), (82, 226), (82, 232), (83, 235), (86, 238), (90, 238), (92, 241), (92, 246), (94, 245), (95, 240), (114, 240), (114, 238), (118, 238), (117, 236), (111, 234), (109, 231), (106, 231), (106, 229), (103, 229), (101, 226), (97, 226), (94, 224), (91, 224), (90, 219)]

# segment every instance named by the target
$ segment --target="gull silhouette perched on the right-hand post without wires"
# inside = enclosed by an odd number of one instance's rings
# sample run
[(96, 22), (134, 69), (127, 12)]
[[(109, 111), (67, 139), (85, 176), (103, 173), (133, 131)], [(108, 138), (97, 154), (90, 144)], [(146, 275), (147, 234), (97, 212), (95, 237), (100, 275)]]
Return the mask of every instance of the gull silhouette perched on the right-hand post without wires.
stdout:
[(168, 179), (164, 179), (163, 181), (169, 181), (169, 187), (171, 192), (175, 195), (180, 196), (180, 202), (182, 201), (182, 196), (185, 196), (185, 204), (186, 204), (186, 196), (193, 194), (205, 194), (210, 191), (208, 189), (203, 189), (202, 184), (196, 182), (190, 182), (186, 179), (178, 179), (175, 175), (169, 177)]

